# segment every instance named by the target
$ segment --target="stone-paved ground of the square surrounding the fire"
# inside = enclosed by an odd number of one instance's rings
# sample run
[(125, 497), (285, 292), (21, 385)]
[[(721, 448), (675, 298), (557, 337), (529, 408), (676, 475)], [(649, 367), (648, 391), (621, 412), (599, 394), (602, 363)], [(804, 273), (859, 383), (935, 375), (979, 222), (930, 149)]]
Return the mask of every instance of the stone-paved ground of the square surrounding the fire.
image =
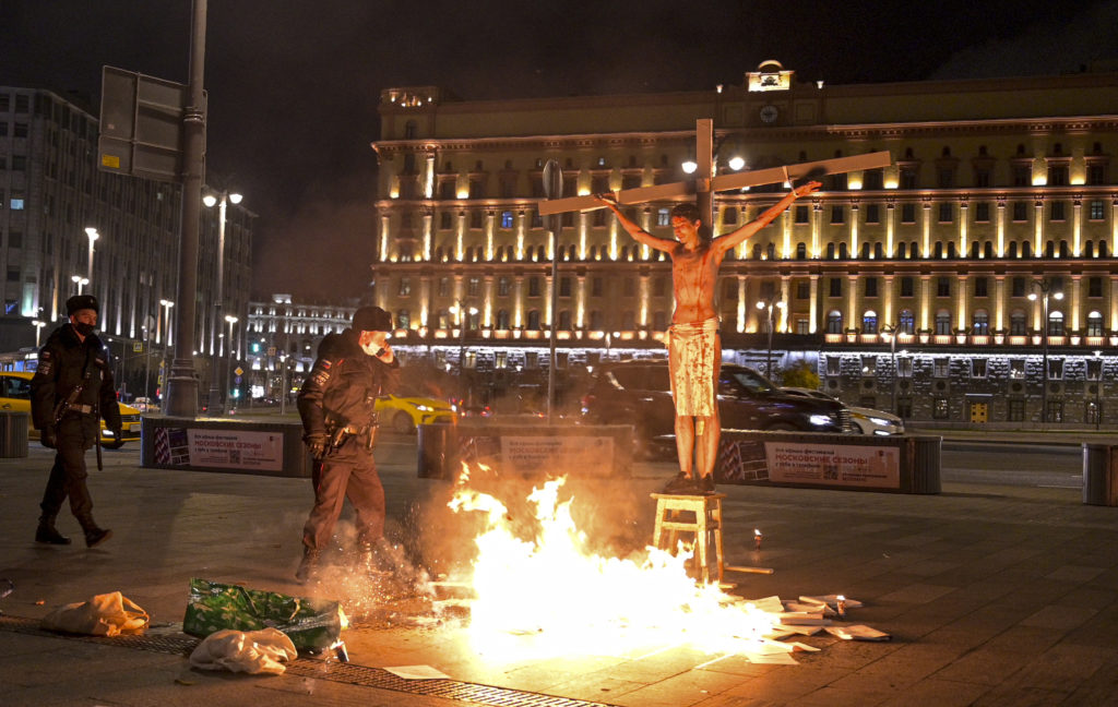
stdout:
[[(468, 539), (440, 515), (448, 485), (416, 478), (414, 438), (401, 441), (378, 450), (389, 532), (438, 572)], [(174, 623), (191, 576), (303, 593), (292, 573), (309, 480), (142, 469), (135, 447), (106, 452), (105, 460), (91, 487), (95, 515), (114, 537), (94, 551), (80, 545), (67, 512), (59, 526), (75, 545), (31, 542), (47, 450), (32, 446), (29, 459), (0, 460), (0, 577), (16, 583), (0, 600), (4, 614), (39, 618), (56, 604), (121, 590), (155, 624)], [(588, 514), (594, 537), (634, 547), (651, 538), (647, 493), (671, 475), (672, 465), (643, 464), (631, 480), (571, 486), (577, 498), (598, 504)], [(798, 666), (730, 658), (699, 668), (716, 656), (680, 648), (495, 666), (473, 656), (451, 627), (416, 628), (406, 612), (385, 611), (347, 632), (350, 659), (430, 665), (466, 684), (612, 705), (1115, 703), (1118, 508), (1084, 506), (1079, 489), (1067, 488), (947, 484), (937, 496), (719, 490), (728, 495), (729, 563), (776, 570), (731, 575), (740, 582), (736, 593), (844, 593), (865, 603), (853, 614), (858, 622), (893, 640), (812, 637), (805, 642), (822, 650), (796, 653)], [(760, 553), (752, 550), (754, 527), (765, 533)], [(424, 542), (417, 544), (419, 528)], [(342, 684), (325, 670), (321, 678), (305, 668), (272, 678), (203, 673), (181, 656), (2, 628), (4, 705), (463, 704)], [(487, 704), (511, 704), (493, 699)]]

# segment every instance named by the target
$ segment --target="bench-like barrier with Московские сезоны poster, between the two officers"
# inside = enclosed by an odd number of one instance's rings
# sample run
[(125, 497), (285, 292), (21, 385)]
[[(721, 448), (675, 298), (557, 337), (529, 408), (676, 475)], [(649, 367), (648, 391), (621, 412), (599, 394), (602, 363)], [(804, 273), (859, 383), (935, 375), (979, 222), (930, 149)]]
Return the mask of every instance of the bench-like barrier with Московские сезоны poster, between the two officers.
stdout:
[(311, 476), (300, 422), (145, 415), (140, 448), (141, 464), (155, 469)]

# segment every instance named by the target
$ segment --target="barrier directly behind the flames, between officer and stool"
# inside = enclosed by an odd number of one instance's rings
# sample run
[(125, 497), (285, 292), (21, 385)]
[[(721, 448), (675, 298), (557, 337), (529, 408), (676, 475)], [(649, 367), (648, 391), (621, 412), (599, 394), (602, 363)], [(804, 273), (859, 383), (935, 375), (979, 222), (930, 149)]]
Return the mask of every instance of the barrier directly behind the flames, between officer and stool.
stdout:
[(418, 475), (455, 478), (467, 465), (500, 474), (627, 477), (633, 462), (628, 424), (420, 424)]

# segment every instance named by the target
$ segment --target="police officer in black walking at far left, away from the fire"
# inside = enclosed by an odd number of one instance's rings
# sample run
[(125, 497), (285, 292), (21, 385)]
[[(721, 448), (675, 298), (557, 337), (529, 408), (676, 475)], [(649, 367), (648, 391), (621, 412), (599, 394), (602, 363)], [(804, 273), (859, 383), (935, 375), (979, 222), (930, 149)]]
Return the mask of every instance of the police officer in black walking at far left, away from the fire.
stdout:
[(55, 518), (69, 498), (70, 513), (85, 531), (86, 547), (107, 541), (113, 532), (93, 520), (93, 499), (85, 479), (85, 452), (101, 443), (98, 417), (121, 437), (108, 351), (93, 333), (100, 307), (93, 295), (66, 300), (69, 322), (55, 329), (39, 351), (39, 366), (31, 379), (31, 419), (44, 447), (58, 450), (39, 507), (35, 542), (68, 545), (70, 538), (55, 528)]

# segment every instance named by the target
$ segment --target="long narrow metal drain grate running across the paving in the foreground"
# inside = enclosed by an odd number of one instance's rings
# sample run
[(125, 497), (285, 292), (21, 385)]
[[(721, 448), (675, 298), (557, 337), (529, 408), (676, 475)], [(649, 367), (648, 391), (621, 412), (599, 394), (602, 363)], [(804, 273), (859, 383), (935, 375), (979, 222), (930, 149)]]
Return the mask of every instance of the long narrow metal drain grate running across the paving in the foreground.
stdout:
[[(170, 653), (172, 656), (189, 656), (190, 651), (199, 643), (199, 639), (181, 633), (173, 636), (116, 636), (113, 638), (102, 636), (67, 636), (44, 631), (39, 628), (38, 619), (25, 619), (2, 614), (0, 614), (0, 631), (66, 638), (91, 643), (117, 646), (120, 648), (132, 648), (134, 650)], [(468, 701), (476, 705), (493, 705), (495, 707), (610, 707), (606, 703), (588, 703), (581, 699), (513, 690), (490, 685), (477, 685), (476, 682), (461, 682), (458, 680), (405, 680), (383, 668), (370, 668), (352, 662), (325, 662), (309, 658), (299, 658), (287, 663), (286, 673), (301, 678), (330, 680), (331, 682), (373, 687), (395, 692), (408, 692), (410, 695), (442, 697), (444, 699)]]

